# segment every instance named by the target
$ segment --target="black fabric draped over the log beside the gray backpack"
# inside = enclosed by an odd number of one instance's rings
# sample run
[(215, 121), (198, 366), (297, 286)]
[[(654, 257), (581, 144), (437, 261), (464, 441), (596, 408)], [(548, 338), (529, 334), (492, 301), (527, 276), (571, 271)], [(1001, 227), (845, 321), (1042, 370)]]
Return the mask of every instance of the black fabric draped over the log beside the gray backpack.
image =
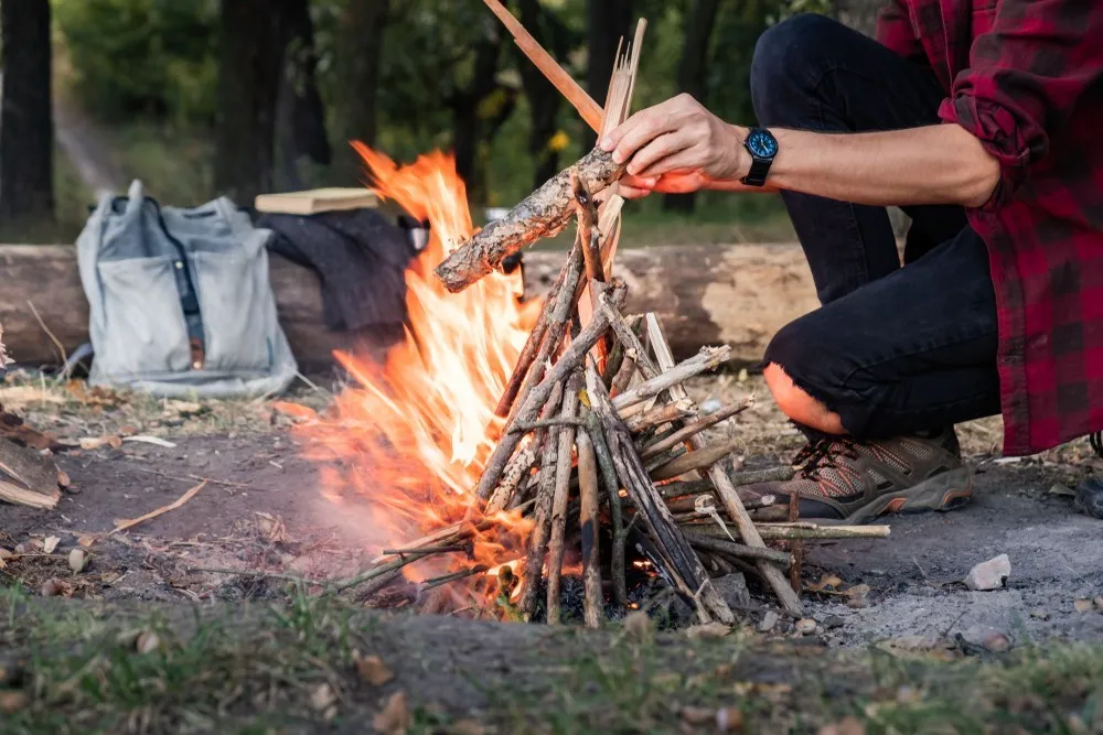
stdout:
[(261, 214), (256, 224), (272, 230), (272, 252), (321, 278), (329, 328), (357, 331), (405, 320), (406, 268), (417, 255), (409, 235), (414, 223), (396, 223), (375, 209), (352, 209)]

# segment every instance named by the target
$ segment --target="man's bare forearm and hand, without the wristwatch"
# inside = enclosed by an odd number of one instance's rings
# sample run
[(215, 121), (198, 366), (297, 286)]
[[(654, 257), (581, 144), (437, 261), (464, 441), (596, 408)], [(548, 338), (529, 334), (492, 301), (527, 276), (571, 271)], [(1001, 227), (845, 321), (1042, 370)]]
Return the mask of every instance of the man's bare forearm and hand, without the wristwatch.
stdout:
[[(979, 206), (999, 180), (999, 163), (960, 126), (870, 133), (771, 129), (780, 152), (769, 188), (855, 204)], [(742, 184), (751, 156), (747, 129), (722, 122), (688, 95), (632, 116), (602, 139), (628, 161), (628, 195), (698, 188), (763, 191)]]

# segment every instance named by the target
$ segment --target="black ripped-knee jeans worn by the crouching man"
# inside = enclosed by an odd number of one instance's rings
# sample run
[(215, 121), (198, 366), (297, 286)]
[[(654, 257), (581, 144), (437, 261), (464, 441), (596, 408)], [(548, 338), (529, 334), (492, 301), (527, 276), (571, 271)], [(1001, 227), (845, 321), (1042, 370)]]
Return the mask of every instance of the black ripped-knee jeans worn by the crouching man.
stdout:
[[(929, 69), (821, 15), (762, 35), (751, 67), (759, 123), (827, 132), (938, 123)], [(881, 207), (782, 194), (821, 309), (767, 349), (859, 437), (936, 430), (999, 412), (988, 257), (957, 206), (903, 207), (904, 264)]]

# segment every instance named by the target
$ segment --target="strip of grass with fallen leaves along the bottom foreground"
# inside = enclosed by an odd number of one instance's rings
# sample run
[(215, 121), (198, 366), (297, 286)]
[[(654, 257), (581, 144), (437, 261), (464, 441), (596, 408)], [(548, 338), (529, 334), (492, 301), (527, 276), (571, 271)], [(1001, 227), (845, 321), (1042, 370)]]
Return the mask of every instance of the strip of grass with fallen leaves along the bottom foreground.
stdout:
[[(357, 652), (378, 653), (395, 680), (362, 680)], [(396, 691), (411, 733), (715, 732), (718, 716), (746, 732), (849, 720), (868, 733), (1097, 733), (1103, 648), (946, 663), (740, 631), (385, 618), (301, 591), (202, 612), (0, 591), (2, 733), (363, 732)]]

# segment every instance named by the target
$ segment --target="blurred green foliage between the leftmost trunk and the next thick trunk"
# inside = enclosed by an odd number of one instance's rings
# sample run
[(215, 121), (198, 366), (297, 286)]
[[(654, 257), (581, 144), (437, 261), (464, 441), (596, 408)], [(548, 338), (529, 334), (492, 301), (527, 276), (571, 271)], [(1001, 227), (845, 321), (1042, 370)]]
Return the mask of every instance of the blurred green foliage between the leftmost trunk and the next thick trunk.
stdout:
[(207, 120), (217, 79), (216, 0), (54, 0), (71, 87), (105, 120)]

